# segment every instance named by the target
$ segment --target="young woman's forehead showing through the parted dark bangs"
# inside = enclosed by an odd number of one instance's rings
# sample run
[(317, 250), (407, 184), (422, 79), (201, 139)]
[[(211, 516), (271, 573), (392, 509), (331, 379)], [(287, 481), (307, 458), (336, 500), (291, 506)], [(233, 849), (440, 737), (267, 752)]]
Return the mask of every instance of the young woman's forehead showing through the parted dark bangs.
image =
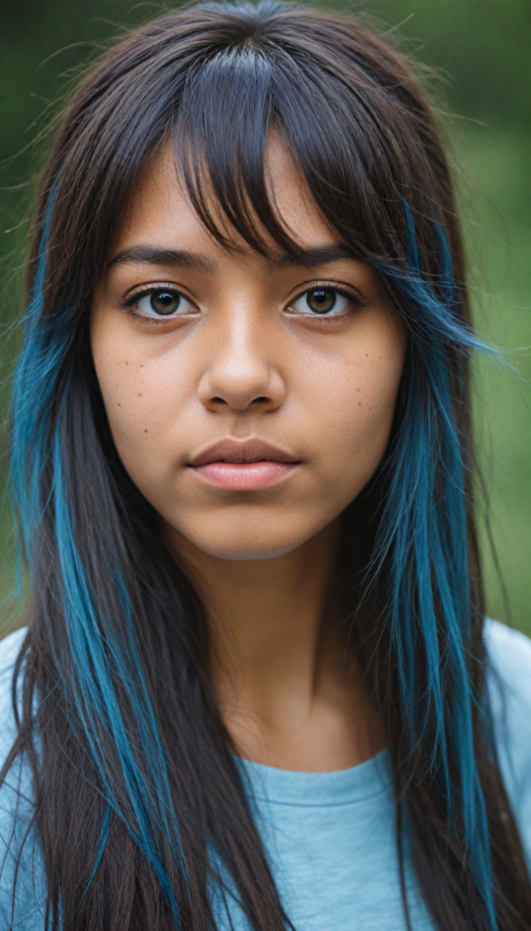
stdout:
[[(317, 209), (305, 179), (277, 133), (270, 134), (264, 168), (272, 209), (300, 250), (312, 250), (322, 247), (325, 242), (336, 242), (337, 236)], [(219, 229), (228, 236), (235, 250), (248, 252), (249, 247), (232, 230), (219, 203), (214, 196), (208, 195), (207, 184), (206, 202)], [(259, 229), (258, 219), (256, 224)], [(220, 250), (192, 207), (170, 142), (161, 148), (140, 176), (129, 199), (113, 251), (123, 250), (138, 241), (161, 241), (161, 237), (166, 242), (171, 240), (174, 247), (187, 250)], [(265, 231), (261, 238), (266, 247), (271, 246), (273, 255), (278, 253), (278, 246)]]

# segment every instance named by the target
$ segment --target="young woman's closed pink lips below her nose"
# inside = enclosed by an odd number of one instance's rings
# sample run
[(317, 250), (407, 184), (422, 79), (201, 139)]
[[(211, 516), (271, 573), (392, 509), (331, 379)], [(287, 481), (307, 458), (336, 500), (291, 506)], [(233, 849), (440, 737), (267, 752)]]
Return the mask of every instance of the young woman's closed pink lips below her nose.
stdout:
[(262, 439), (222, 439), (189, 463), (192, 472), (209, 485), (232, 491), (259, 491), (285, 479), (300, 460)]

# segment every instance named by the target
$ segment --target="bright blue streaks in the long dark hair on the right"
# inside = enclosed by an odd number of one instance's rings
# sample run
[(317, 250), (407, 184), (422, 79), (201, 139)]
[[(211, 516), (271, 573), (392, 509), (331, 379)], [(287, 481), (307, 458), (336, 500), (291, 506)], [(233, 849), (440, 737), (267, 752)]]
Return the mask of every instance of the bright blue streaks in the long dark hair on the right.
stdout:
[[(387, 573), (385, 623), (397, 659), (411, 752), (415, 753), (429, 721), (434, 721), (431, 772), (426, 777), (437, 778), (444, 787), (448, 818), (463, 837), (474, 883), (496, 931), (488, 822), (472, 726), (474, 710), (485, 713), (484, 696), (473, 694), (467, 662), (475, 608), (468, 567), (469, 466), (463, 461), (452, 411), (456, 398), (451, 392), (448, 348), (467, 358), (476, 351), (495, 358), (499, 355), (455, 312), (458, 301), (450, 251), (443, 227), (435, 221), (439, 275), (426, 281), (411, 210), (404, 197), (398, 196), (405, 214), (409, 268), (397, 271), (379, 266), (378, 270), (407, 307), (410, 370), (401, 424), (390, 454), (390, 481), (373, 567), (378, 572), (385, 566)], [(427, 670), (422, 702), (418, 701), (416, 668), (419, 644)], [(450, 760), (457, 763), (453, 772), (457, 769), (458, 785), (450, 775)]]

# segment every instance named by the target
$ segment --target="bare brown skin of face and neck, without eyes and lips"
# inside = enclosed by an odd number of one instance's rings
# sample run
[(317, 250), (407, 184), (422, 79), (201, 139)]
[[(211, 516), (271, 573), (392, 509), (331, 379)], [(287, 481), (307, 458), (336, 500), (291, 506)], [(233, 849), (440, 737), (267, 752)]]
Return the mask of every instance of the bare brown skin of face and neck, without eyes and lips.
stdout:
[[(268, 166), (301, 249), (334, 246), (275, 138)], [(94, 362), (122, 462), (204, 595), (239, 751), (285, 769), (346, 768), (383, 738), (331, 596), (341, 587), (339, 516), (385, 452), (405, 334), (364, 263), (275, 267), (237, 245), (223, 250), (206, 233), (163, 151), (131, 198), (113, 257), (149, 246), (206, 261), (111, 264), (92, 308)], [(365, 306), (301, 312), (301, 293), (317, 285)], [(149, 298), (124, 309), (143, 286), (178, 290), (187, 312), (153, 324), (141, 316)], [(188, 464), (228, 437), (267, 440), (301, 466), (260, 491), (211, 487)]]

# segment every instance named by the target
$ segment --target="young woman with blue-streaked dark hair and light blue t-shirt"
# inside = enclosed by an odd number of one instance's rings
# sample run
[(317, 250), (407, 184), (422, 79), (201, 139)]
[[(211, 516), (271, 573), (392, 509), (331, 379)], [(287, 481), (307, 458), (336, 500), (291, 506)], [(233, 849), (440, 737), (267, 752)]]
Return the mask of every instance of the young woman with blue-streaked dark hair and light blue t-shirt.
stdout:
[(92, 69), (42, 179), (2, 929), (524, 931), (455, 203), (405, 61), (262, 0)]

